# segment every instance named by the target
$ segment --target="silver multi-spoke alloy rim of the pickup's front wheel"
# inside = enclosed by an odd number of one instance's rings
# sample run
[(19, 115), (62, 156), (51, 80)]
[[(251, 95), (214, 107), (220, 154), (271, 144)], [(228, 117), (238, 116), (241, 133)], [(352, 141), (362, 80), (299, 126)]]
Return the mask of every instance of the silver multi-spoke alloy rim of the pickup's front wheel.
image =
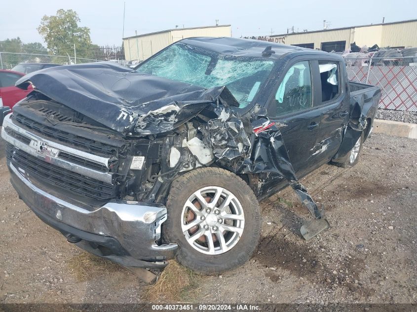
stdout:
[(223, 187), (201, 188), (189, 197), (181, 213), (181, 229), (197, 251), (218, 255), (240, 240), (245, 215), (239, 200)]

